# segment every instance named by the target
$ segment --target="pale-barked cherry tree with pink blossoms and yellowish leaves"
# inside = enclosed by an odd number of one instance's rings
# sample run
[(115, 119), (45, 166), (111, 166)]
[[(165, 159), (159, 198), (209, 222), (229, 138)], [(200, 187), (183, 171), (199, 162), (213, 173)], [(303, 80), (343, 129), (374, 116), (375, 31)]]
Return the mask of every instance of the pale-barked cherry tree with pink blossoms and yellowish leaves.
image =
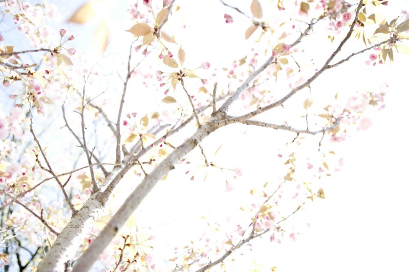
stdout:
[[(192, 2), (133, 0), (113, 20), (102, 0), (0, 1), (4, 271), (237, 271), (258, 241), (296, 241), (344, 141), (385, 107), (387, 83), (360, 71), (409, 53), (387, 0), (214, 0), (206, 22), (180, 15)], [(200, 24), (219, 35), (194, 40), (209, 54), (179, 42)], [(173, 211), (203, 232), (161, 256), (149, 216), (176, 187), (216, 208)]]

